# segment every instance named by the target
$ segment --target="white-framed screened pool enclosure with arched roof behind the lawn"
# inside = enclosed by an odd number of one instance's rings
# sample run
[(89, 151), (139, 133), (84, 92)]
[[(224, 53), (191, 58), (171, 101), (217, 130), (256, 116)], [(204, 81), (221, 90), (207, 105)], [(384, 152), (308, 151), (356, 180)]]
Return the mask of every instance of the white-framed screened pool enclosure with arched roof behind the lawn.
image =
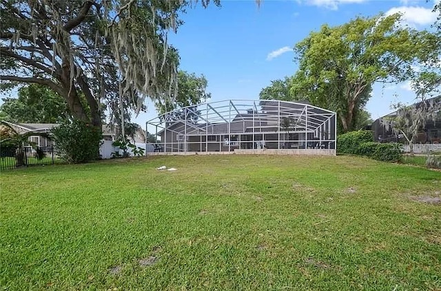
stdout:
[(156, 136), (158, 153), (336, 150), (336, 113), (302, 102), (205, 103), (149, 120), (146, 131)]

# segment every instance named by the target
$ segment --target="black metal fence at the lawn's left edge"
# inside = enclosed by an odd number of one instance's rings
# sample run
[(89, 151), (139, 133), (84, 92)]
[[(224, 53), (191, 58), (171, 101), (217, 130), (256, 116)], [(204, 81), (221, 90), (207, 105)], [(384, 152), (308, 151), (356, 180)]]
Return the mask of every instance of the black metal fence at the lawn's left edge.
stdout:
[(38, 148), (0, 147), (0, 170), (62, 162), (57, 147), (54, 146)]

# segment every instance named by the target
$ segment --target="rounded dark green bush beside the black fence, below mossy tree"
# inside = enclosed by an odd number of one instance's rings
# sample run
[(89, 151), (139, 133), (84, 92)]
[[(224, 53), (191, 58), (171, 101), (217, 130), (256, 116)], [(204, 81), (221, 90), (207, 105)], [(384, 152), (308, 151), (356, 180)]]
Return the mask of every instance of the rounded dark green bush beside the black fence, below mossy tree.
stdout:
[(99, 158), (101, 128), (81, 120), (59, 125), (52, 129), (59, 155), (68, 163), (89, 162)]

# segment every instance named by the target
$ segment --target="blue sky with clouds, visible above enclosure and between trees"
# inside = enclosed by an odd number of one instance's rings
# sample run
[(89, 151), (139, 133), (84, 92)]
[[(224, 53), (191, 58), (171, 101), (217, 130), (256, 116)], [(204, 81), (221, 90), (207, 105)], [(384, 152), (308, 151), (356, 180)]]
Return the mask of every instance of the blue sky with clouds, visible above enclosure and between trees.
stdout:
[[(399, 11), (407, 24), (424, 29), (436, 18), (433, 0), (264, 0), (260, 7), (251, 0), (221, 3), (220, 8), (199, 4), (188, 9), (182, 15), (185, 23), (169, 36), (179, 50), (180, 69), (204, 74), (214, 101), (258, 99), (271, 80), (294, 74), (298, 66), (292, 47), (323, 23), (340, 25), (358, 15)], [(376, 85), (372, 95), (367, 110), (373, 118), (389, 113), (391, 103), (415, 98), (408, 83)], [(141, 126), (156, 116), (146, 103), (148, 112), (134, 118)]]

